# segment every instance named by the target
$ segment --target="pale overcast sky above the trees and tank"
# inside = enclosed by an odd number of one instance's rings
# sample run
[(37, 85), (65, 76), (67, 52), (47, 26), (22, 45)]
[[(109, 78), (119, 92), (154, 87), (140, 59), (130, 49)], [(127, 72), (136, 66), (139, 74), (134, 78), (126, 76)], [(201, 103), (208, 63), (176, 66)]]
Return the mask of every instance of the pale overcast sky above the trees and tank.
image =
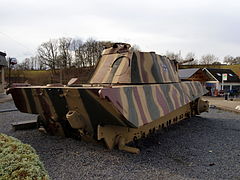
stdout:
[(239, 0), (0, 0), (0, 51), (19, 61), (45, 41), (92, 37), (198, 58), (240, 56)]

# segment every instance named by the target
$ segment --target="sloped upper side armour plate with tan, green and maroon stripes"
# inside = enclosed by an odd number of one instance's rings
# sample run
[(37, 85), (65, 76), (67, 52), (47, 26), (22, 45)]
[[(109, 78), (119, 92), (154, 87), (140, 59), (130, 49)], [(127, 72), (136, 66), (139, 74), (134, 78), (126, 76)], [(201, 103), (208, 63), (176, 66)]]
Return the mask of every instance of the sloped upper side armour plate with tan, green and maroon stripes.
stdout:
[(100, 94), (133, 126), (167, 115), (207, 93), (199, 82), (104, 88)]

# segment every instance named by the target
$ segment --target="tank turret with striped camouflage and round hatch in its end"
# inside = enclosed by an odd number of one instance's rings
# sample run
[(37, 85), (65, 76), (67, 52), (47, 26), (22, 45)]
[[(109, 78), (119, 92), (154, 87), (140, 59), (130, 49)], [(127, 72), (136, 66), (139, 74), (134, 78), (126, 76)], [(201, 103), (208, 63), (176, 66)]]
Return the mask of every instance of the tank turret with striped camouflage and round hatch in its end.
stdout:
[[(175, 61), (154, 52), (103, 51), (90, 83), (143, 84), (180, 82)], [(116, 53), (120, 49), (121, 53)], [(106, 52), (107, 51), (107, 52)], [(113, 53), (114, 52), (114, 53)], [(103, 73), (104, 72), (104, 73)]]

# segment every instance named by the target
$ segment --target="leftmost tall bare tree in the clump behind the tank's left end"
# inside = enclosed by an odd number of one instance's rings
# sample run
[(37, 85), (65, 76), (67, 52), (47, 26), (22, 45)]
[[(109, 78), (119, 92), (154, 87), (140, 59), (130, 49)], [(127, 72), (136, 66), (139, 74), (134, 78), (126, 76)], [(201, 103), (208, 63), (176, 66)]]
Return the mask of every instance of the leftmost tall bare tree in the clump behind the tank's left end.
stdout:
[(58, 44), (57, 40), (49, 40), (48, 42), (42, 43), (38, 47), (38, 57), (43, 65), (46, 65), (53, 72), (56, 69), (57, 57), (58, 57)]

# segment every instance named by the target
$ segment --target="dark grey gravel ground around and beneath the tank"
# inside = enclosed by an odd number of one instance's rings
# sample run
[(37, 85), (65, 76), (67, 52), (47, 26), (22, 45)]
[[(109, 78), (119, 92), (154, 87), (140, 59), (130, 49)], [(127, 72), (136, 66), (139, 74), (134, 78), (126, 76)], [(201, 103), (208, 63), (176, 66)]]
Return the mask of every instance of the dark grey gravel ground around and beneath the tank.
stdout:
[[(7, 108), (14, 108), (13, 102), (0, 104)], [(239, 114), (210, 109), (141, 140), (139, 155), (11, 128), (35, 118), (0, 113), (0, 132), (32, 145), (52, 179), (240, 179)]]

